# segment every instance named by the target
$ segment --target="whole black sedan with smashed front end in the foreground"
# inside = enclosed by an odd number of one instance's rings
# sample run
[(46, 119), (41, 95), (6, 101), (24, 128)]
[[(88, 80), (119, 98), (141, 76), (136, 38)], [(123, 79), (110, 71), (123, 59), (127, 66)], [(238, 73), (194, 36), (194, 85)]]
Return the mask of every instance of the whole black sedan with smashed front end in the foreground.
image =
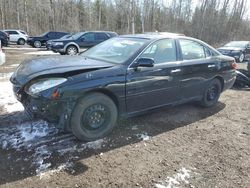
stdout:
[(118, 116), (189, 101), (211, 107), (234, 84), (235, 68), (234, 58), (193, 38), (129, 35), (79, 56), (27, 60), (11, 82), (32, 117), (88, 141), (107, 135)]

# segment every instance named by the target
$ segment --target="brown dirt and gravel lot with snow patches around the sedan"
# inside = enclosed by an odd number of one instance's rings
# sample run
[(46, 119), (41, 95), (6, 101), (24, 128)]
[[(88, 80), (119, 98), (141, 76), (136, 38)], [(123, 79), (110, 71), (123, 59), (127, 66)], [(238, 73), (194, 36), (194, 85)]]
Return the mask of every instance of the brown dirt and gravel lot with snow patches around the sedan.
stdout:
[(123, 119), (109, 137), (81, 143), (29, 120), (13, 97), (11, 72), (44, 52), (5, 52), (0, 187), (250, 187), (249, 89), (229, 90), (209, 109), (186, 104)]

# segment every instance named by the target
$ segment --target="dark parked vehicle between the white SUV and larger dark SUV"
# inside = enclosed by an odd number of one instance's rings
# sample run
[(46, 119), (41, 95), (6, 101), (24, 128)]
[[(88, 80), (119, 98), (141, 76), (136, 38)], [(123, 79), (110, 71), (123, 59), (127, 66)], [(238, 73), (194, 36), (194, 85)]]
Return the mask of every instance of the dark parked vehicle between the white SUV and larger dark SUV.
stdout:
[(53, 39), (60, 39), (64, 35), (68, 34), (69, 33), (67, 32), (49, 31), (38, 37), (29, 37), (27, 40), (27, 44), (35, 48), (41, 48), (42, 46), (46, 46), (47, 41)]

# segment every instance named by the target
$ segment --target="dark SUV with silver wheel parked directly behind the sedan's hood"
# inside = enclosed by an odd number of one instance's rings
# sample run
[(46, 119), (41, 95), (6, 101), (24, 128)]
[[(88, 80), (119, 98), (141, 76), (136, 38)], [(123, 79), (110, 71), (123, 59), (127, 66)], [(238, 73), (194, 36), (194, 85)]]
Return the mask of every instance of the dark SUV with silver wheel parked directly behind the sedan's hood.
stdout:
[(115, 36), (117, 33), (110, 31), (80, 32), (69, 38), (53, 40), (51, 50), (61, 55), (76, 55), (81, 48), (93, 47)]

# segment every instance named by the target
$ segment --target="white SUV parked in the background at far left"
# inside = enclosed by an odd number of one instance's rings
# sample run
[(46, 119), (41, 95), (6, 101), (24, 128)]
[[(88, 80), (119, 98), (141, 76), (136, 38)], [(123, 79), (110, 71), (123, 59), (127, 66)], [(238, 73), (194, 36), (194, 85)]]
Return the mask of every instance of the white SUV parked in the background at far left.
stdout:
[(19, 45), (24, 45), (29, 37), (28, 34), (22, 30), (7, 29), (4, 31), (9, 34), (10, 42)]

